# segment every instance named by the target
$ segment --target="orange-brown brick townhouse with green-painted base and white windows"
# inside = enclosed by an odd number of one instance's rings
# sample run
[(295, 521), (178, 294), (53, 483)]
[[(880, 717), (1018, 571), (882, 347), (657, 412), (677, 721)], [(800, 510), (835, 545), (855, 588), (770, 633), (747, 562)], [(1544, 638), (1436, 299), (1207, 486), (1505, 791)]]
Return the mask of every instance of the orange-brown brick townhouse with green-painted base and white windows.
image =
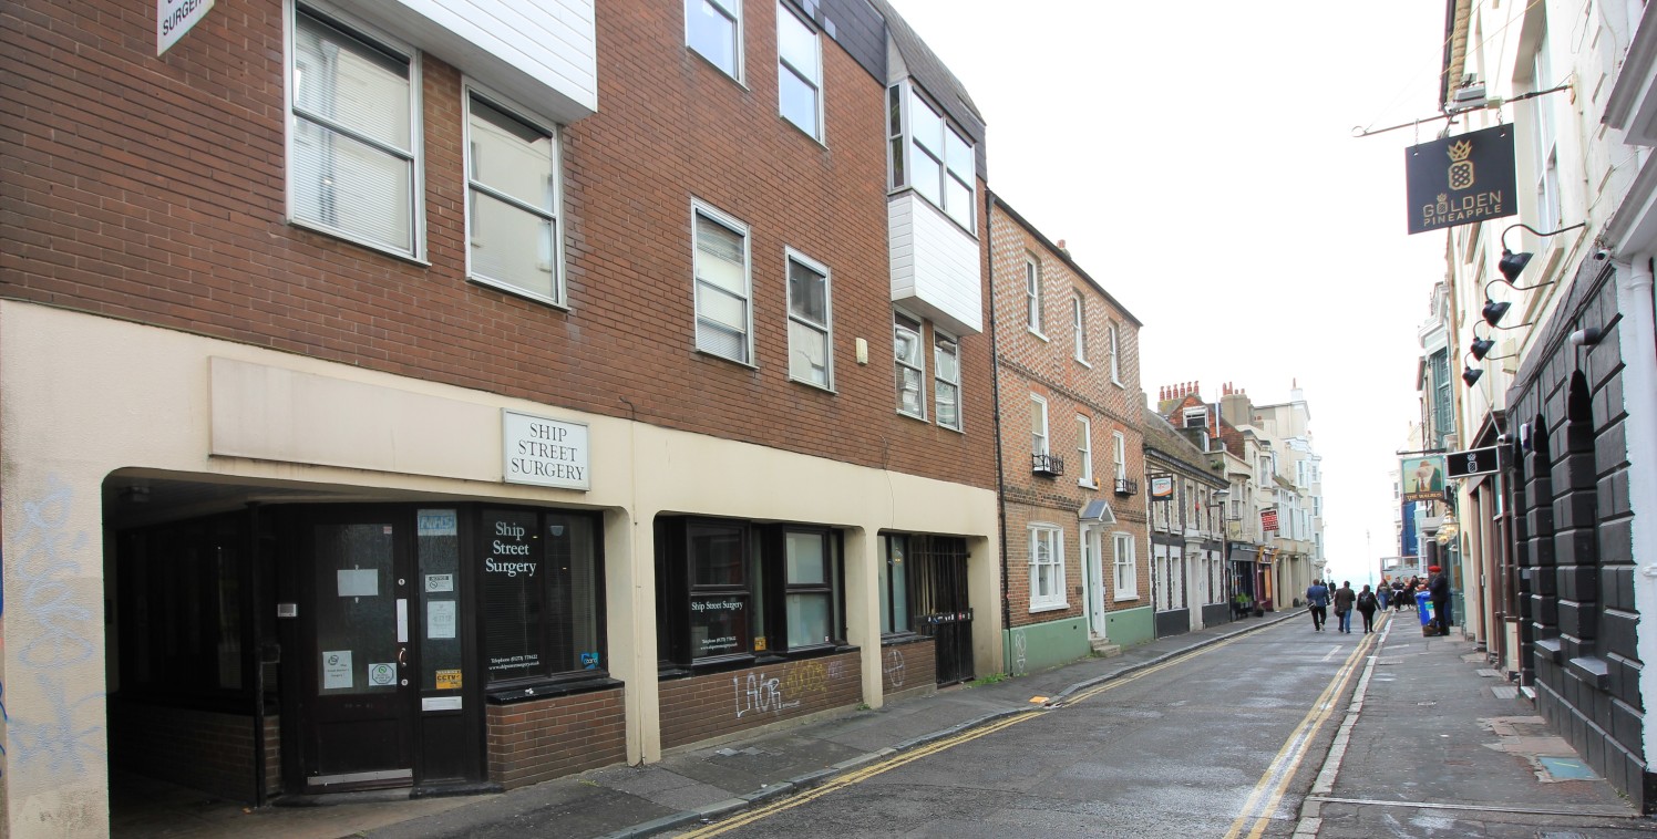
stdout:
[(996, 195), (1007, 672), (1153, 635), (1140, 323)]

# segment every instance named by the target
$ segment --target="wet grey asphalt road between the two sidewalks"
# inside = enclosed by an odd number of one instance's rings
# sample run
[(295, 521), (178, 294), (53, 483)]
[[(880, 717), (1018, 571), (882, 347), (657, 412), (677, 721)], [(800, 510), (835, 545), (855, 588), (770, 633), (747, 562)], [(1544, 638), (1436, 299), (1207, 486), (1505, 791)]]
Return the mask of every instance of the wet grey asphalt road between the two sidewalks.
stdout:
[(1291, 836), (1374, 637), (1289, 621), (678, 836)]

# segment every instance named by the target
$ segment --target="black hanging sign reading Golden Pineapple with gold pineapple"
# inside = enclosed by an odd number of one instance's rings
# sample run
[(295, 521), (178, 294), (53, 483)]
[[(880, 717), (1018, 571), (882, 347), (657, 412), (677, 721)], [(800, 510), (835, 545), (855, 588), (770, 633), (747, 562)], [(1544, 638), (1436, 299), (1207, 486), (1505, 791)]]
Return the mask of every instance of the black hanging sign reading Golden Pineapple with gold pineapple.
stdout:
[(1518, 215), (1513, 126), (1403, 149), (1410, 233)]

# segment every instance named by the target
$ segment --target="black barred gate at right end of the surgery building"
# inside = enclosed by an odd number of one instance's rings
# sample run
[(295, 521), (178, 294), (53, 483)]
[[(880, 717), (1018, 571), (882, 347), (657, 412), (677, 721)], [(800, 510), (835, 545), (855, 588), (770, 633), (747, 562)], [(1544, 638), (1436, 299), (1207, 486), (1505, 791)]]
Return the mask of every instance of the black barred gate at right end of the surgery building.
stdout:
[(915, 630), (931, 635), (938, 683), (973, 678), (973, 607), (966, 586), (966, 539), (915, 536), (910, 543)]

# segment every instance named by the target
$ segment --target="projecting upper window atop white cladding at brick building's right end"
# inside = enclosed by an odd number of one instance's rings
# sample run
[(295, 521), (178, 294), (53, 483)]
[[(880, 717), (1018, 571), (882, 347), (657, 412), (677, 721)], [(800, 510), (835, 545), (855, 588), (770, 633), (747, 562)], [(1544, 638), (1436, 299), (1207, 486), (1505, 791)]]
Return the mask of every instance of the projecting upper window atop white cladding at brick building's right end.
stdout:
[(915, 88), (890, 93), (891, 189), (915, 187), (961, 227), (973, 230), (973, 142)]

